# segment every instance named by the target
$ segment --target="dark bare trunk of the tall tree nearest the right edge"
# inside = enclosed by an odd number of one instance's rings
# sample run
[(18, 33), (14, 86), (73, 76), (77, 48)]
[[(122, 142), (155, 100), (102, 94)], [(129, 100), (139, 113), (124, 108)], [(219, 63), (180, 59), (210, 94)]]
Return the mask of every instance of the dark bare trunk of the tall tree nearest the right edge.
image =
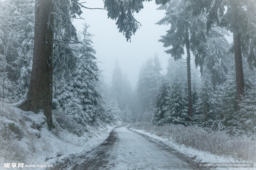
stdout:
[(239, 103), (242, 100), (241, 96), (244, 91), (244, 79), (243, 79), (243, 62), (242, 62), (242, 51), (241, 51), (241, 37), (240, 33), (237, 35), (233, 34), (234, 39), (234, 54), (235, 54), (235, 66), (236, 66), (236, 82), (237, 82), (237, 109), (240, 110)]

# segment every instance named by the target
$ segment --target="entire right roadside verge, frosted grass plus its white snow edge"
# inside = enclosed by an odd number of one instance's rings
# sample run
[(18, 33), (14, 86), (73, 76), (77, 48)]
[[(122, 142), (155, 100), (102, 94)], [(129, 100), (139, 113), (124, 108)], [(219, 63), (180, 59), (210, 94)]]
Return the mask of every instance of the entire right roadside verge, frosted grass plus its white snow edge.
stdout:
[(247, 136), (231, 137), (221, 130), (206, 131), (204, 128), (183, 125), (154, 126), (147, 122), (132, 124), (130, 129), (160, 141), (200, 163), (245, 163), (255, 162), (256, 158), (255, 139), (252, 140)]

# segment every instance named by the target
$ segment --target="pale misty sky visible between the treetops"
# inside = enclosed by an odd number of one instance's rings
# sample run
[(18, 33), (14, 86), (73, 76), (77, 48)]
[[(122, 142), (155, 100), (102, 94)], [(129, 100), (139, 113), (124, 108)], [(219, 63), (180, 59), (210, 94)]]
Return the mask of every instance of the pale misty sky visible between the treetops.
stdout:
[[(87, 2), (83, 5), (89, 8), (104, 7), (102, 0), (81, 0), (80, 2)], [(163, 43), (158, 42), (158, 40), (161, 38), (160, 35), (166, 34), (165, 31), (170, 28), (170, 25), (155, 25), (165, 16), (165, 11), (156, 10), (159, 5), (156, 5), (154, 1), (144, 2), (143, 6), (144, 9), (134, 15), (142, 27), (137, 30), (135, 35), (132, 35), (131, 43), (127, 42), (123, 33), (119, 32), (115, 21), (108, 19), (106, 10), (83, 8), (81, 17), (85, 20), (76, 19), (73, 22), (78, 31), (83, 29), (82, 23), (90, 25), (88, 31), (95, 35), (92, 38), (94, 42), (92, 45), (97, 52), (95, 56), (98, 61), (102, 62), (99, 63), (99, 67), (101, 70), (105, 69), (102, 74), (108, 77), (104, 80), (107, 83), (111, 82), (114, 63), (117, 59), (123, 74), (127, 73), (134, 88), (142, 63), (149, 57), (153, 58), (156, 52), (164, 68), (162, 74), (166, 74), (167, 59), (170, 55), (164, 53), (164, 50), (168, 48), (163, 47)], [(232, 38), (228, 39), (231, 43)]]

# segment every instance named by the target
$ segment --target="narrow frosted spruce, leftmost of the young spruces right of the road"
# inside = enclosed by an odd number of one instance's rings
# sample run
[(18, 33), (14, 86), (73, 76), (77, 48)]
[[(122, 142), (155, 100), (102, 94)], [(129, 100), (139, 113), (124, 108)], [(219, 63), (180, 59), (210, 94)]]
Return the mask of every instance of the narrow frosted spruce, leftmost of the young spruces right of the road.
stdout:
[(156, 95), (154, 97), (155, 106), (152, 112), (152, 124), (161, 125), (160, 122), (164, 119), (164, 114), (166, 112), (165, 108), (167, 107), (167, 98), (168, 92), (170, 90), (169, 83), (166, 81), (163, 76), (162, 81), (158, 85), (158, 89), (156, 90)]

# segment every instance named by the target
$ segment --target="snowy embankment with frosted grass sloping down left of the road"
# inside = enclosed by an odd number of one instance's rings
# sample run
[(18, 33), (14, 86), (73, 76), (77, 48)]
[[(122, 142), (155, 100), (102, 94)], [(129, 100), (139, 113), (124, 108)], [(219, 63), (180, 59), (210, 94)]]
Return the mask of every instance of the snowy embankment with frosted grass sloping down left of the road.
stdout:
[(61, 112), (53, 112), (53, 117), (57, 126), (49, 131), (43, 113), (25, 112), (13, 104), (0, 103), (0, 170), (8, 169), (4, 163), (24, 163), (24, 168), (64, 164), (78, 153), (97, 147), (113, 129), (109, 125), (84, 127)]

